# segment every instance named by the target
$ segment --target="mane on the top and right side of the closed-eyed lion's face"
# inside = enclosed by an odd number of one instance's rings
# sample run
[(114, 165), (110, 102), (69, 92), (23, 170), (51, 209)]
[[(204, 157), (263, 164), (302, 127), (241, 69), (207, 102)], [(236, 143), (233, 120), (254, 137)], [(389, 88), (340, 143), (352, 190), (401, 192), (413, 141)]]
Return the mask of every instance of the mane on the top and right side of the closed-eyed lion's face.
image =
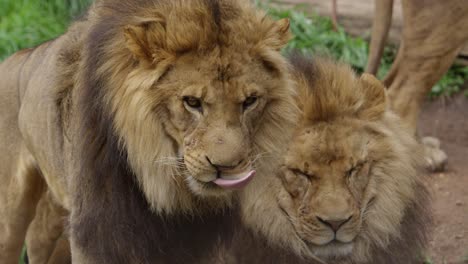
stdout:
[(388, 99), (377, 92), (380, 89), (368, 83), (361, 89), (351, 85), (356, 77), (349, 66), (299, 55), (292, 56), (291, 62), (302, 83), (300, 89), (307, 90), (301, 96), (304, 120), (327, 122), (346, 116), (371, 119), (375, 132), (385, 142), (373, 156), (366, 190), (375, 196), (362, 216), (363, 226), (351, 256), (340, 263), (407, 263), (420, 257), (431, 214), (419, 144), (389, 110)]

